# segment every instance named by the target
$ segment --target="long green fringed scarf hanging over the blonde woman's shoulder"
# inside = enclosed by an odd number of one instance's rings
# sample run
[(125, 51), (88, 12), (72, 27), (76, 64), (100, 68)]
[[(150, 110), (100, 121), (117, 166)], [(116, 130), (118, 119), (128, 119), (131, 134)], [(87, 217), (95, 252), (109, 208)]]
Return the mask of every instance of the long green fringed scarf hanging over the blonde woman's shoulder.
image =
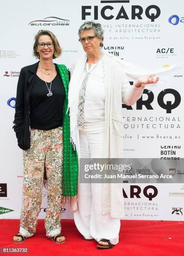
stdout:
[(70, 113), (68, 108), (69, 74), (65, 65), (58, 65), (60, 76), (65, 88), (65, 101), (63, 105), (63, 173), (62, 195), (63, 203), (77, 200), (78, 157), (70, 141)]

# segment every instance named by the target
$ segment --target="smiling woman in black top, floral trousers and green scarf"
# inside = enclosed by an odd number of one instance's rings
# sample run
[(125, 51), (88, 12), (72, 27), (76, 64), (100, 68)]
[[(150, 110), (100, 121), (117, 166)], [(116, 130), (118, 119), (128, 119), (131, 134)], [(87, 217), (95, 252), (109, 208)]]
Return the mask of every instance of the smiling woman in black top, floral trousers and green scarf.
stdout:
[(24, 173), (20, 230), (14, 243), (22, 243), (36, 232), (44, 173), (46, 236), (55, 243), (65, 242), (60, 224), (62, 202), (74, 202), (77, 197), (78, 160), (70, 142), (67, 111), (70, 72), (65, 65), (53, 63), (61, 52), (52, 32), (38, 31), (33, 55), (40, 61), (22, 68), (17, 84), (13, 128), (23, 149)]

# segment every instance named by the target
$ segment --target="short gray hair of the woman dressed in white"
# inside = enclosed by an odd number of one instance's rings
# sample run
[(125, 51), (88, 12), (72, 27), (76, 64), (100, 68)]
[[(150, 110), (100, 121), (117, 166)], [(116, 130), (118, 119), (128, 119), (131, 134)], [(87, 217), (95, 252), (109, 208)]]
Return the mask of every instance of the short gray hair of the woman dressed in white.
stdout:
[[(79, 38), (80, 38), (80, 33), (82, 31), (90, 30), (90, 29), (93, 29), (95, 36), (102, 38), (102, 42), (104, 41), (104, 31), (102, 29), (102, 25), (100, 23), (95, 23), (94, 21), (86, 21), (85, 23), (83, 23), (80, 26), (79, 31), (78, 31)], [(104, 46), (104, 44), (101, 43), (100, 47), (103, 47), (103, 46)]]

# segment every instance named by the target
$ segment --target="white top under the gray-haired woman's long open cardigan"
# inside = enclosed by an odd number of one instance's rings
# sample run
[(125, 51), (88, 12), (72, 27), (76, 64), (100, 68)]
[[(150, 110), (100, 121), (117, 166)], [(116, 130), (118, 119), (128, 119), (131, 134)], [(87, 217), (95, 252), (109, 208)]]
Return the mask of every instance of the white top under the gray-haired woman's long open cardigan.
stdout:
[[(86, 64), (90, 76), (86, 84), (86, 95), (84, 104), (84, 128), (81, 133), (102, 133), (105, 127), (105, 88), (102, 59), (96, 64)], [(85, 77), (82, 75), (81, 84)]]

